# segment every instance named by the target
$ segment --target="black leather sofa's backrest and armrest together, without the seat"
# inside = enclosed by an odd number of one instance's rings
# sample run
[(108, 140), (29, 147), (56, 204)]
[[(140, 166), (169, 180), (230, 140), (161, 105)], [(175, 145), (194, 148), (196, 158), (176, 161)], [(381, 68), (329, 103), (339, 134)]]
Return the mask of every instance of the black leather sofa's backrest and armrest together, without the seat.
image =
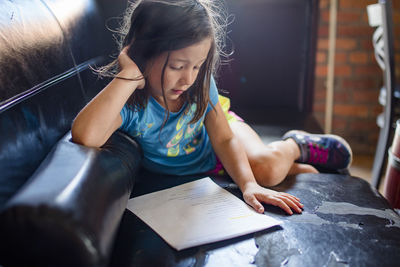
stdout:
[(140, 150), (123, 133), (71, 142), (71, 122), (101, 89), (106, 25), (126, 1), (0, 2), (0, 265), (105, 266)]

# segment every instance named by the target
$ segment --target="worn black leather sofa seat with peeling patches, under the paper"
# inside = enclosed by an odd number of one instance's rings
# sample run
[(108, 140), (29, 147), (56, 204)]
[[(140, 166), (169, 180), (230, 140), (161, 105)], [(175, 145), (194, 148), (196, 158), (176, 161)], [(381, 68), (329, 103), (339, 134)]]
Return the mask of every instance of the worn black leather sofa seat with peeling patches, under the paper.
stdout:
[[(132, 196), (196, 178), (143, 173)], [(229, 178), (213, 180), (241, 197)], [(110, 266), (399, 266), (400, 217), (366, 181), (301, 174), (274, 189), (299, 197), (303, 213), (266, 205), (281, 226), (179, 252), (126, 211)]]

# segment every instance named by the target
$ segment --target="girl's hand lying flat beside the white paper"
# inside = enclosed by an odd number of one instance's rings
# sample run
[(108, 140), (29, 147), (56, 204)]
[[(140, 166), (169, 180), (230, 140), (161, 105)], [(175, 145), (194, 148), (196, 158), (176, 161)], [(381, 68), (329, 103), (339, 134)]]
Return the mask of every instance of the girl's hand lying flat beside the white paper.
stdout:
[(294, 210), (302, 212), (303, 204), (300, 199), (285, 192), (277, 192), (264, 188), (255, 182), (248, 183), (243, 190), (243, 198), (247, 204), (252, 206), (257, 212), (263, 213), (264, 207), (260, 202), (278, 206), (286, 213), (292, 215)]

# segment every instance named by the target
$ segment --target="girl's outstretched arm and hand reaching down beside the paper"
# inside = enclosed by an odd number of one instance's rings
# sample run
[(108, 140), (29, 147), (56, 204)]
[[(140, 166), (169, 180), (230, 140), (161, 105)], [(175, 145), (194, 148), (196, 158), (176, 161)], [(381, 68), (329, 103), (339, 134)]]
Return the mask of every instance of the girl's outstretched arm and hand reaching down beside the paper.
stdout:
[(264, 207), (260, 202), (279, 206), (288, 214), (293, 214), (291, 209), (301, 213), (302, 204), (296, 197), (257, 184), (246, 152), (241, 142), (233, 134), (219, 102), (215, 106), (215, 111), (211, 110), (206, 115), (207, 133), (215, 153), (239, 186), (247, 204), (260, 213), (264, 212)]

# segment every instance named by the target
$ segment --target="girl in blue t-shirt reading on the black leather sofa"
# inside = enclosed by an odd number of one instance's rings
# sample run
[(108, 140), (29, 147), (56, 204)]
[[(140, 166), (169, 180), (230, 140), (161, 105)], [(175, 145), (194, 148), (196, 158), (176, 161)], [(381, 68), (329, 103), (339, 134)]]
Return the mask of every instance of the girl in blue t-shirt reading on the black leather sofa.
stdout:
[(118, 59), (100, 70), (114, 79), (78, 114), (73, 140), (100, 147), (124, 130), (141, 145), (143, 166), (165, 174), (215, 171), (220, 160), (256, 211), (264, 212), (263, 202), (301, 213), (298, 198), (264, 186), (288, 174), (317, 172), (296, 160), (345, 168), (351, 150), (336, 136), (299, 131), (264, 145), (228, 112), (213, 79), (226, 26), (216, 2), (136, 1), (125, 16)]

